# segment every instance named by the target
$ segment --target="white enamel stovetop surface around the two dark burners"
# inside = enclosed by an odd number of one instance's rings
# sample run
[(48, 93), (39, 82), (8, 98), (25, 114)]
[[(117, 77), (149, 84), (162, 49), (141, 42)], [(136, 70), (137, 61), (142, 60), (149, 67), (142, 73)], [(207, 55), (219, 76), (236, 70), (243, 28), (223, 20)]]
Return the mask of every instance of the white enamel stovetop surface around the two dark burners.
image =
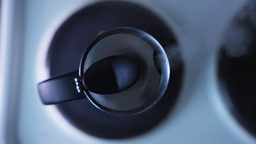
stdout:
[(185, 58), (177, 104), (152, 131), (131, 139), (99, 139), (74, 128), (54, 106), (42, 105), (36, 89), (45, 75), (38, 73), (40, 52), (63, 20), (91, 2), (3, 1), (0, 143), (256, 143), (227, 110), (216, 77), (224, 30), (247, 2), (242, 0), (134, 1), (164, 18)]

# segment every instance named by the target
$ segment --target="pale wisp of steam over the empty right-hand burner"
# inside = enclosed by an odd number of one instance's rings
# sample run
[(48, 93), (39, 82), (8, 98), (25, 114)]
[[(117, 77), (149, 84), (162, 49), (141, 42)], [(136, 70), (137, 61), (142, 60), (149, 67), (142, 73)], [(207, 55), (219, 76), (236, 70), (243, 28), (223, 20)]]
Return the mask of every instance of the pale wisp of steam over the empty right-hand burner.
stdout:
[(226, 31), (224, 48), (229, 56), (241, 57), (250, 52), (249, 47), (255, 38), (256, 1), (250, 1), (237, 13)]

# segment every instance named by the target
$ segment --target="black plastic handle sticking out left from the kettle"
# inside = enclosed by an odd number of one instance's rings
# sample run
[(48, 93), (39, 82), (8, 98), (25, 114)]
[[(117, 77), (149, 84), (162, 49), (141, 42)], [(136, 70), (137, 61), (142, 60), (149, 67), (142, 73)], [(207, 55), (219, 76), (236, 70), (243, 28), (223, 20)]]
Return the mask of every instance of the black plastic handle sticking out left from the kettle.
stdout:
[(86, 98), (83, 91), (79, 93), (77, 90), (75, 78), (78, 77), (79, 73), (76, 70), (38, 83), (38, 92), (43, 104), (59, 104)]

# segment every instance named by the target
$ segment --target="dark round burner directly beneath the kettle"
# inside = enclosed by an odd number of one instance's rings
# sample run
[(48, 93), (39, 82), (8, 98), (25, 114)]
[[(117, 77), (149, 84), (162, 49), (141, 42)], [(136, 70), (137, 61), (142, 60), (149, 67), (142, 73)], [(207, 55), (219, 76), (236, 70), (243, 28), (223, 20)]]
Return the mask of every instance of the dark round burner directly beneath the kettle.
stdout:
[[(154, 13), (129, 2), (98, 2), (69, 17), (51, 41), (47, 64), (50, 76), (78, 70), (84, 50), (96, 36), (116, 27), (142, 29), (165, 47), (174, 45), (171, 29)], [(61, 114), (85, 133), (105, 139), (124, 139), (143, 134), (164, 119), (181, 88), (183, 64), (172, 70), (165, 95), (152, 109), (133, 116), (114, 116), (98, 110), (88, 99), (56, 105)]]

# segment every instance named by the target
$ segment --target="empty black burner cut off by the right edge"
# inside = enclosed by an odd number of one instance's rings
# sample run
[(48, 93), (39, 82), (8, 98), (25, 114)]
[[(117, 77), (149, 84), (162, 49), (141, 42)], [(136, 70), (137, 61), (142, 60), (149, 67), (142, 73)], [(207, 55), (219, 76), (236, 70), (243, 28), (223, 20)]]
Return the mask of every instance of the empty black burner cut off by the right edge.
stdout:
[(231, 22), (226, 37), (232, 38), (219, 52), (218, 77), (230, 111), (256, 136), (256, 25), (250, 14), (246, 7)]

